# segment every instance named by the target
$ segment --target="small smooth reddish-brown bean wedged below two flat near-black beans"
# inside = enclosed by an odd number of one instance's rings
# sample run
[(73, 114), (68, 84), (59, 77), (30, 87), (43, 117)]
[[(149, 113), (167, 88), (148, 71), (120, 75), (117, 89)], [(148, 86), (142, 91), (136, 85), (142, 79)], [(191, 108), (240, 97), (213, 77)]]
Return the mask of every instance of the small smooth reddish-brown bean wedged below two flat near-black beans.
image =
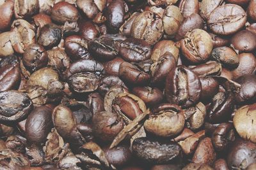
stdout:
[(104, 70), (109, 75), (118, 76), (119, 66), (122, 62), (124, 62), (124, 60), (121, 57), (116, 57), (113, 60), (104, 62)]

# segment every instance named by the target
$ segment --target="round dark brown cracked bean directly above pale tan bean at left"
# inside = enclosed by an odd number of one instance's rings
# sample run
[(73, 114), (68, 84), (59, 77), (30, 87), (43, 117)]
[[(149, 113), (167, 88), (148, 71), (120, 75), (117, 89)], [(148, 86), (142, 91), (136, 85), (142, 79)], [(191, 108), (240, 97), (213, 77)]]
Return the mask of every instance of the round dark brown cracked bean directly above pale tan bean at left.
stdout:
[(23, 54), (23, 64), (31, 71), (36, 71), (47, 65), (48, 55), (41, 45), (29, 45)]

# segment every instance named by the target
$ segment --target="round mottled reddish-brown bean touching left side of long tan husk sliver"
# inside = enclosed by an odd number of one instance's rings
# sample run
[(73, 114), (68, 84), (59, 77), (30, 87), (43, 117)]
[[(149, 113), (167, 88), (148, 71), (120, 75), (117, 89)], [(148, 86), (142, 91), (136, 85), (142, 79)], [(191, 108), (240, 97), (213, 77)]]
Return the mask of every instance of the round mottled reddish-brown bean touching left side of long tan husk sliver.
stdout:
[(93, 115), (93, 134), (102, 141), (113, 141), (124, 128), (124, 121), (116, 113), (107, 111)]

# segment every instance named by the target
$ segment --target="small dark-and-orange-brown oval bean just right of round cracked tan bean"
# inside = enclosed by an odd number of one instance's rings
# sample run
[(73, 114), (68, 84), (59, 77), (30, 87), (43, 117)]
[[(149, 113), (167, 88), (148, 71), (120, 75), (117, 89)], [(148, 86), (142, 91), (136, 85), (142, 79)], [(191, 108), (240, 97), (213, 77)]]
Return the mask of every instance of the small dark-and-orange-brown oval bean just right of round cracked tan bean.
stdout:
[(224, 67), (236, 68), (239, 64), (237, 53), (227, 46), (214, 48), (211, 57)]

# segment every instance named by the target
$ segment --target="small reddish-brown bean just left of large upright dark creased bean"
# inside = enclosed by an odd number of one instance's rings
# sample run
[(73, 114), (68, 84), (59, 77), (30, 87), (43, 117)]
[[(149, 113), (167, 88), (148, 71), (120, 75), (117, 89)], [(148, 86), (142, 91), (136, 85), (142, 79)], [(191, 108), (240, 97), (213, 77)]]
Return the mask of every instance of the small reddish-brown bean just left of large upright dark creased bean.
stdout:
[(147, 106), (155, 106), (163, 101), (163, 92), (152, 87), (134, 87), (132, 94), (140, 97)]

